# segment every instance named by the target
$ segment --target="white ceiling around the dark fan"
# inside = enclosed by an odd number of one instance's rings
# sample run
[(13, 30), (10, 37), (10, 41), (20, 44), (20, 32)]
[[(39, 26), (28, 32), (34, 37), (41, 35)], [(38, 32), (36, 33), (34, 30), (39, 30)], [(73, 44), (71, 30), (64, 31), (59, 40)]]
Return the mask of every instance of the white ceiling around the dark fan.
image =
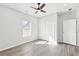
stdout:
[(72, 10), (76, 10), (79, 8), (78, 3), (46, 3), (46, 6), (43, 8), (43, 10), (45, 10), (46, 13), (39, 12), (35, 14), (36, 10), (30, 7), (37, 7), (36, 3), (4, 3), (3, 5), (14, 8), (24, 13), (28, 13), (35, 17), (42, 17), (53, 14), (55, 12), (68, 11), (69, 8), (72, 8)]

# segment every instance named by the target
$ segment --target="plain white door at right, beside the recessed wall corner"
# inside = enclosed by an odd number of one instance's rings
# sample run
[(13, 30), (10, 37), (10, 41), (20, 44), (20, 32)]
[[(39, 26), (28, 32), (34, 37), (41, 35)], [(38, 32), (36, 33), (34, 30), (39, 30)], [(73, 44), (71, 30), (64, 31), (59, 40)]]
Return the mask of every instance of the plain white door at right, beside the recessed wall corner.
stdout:
[(76, 19), (63, 21), (63, 42), (76, 45)]

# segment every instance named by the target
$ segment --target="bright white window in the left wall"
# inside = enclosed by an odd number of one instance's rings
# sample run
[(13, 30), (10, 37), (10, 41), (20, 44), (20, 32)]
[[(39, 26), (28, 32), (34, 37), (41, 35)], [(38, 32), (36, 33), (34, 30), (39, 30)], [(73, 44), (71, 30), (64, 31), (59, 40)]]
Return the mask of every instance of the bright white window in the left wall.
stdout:
[(30, 21), (23, 21), (23, 37), (28, 37), (32, 35), (32, 23)]

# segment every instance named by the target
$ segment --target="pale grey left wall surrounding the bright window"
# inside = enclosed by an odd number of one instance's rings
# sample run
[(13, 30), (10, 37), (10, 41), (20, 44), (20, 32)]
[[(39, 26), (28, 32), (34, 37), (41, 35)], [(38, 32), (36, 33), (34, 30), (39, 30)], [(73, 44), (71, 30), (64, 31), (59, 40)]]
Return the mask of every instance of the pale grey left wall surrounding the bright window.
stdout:
[[(32, 36), (22, 37), (22, 21), (32, 22)], [(0, 5), (0, 51), (37, 39), (37, 19)]]

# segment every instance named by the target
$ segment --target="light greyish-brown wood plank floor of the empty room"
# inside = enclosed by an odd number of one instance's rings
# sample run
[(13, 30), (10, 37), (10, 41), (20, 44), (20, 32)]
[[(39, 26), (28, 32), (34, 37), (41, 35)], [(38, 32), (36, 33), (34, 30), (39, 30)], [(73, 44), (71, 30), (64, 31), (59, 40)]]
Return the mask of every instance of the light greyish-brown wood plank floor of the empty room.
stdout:
[(67, 44), (36, 44), (37, 42), (2, 51), (0, 56), (79, 56), (79, 47)]

